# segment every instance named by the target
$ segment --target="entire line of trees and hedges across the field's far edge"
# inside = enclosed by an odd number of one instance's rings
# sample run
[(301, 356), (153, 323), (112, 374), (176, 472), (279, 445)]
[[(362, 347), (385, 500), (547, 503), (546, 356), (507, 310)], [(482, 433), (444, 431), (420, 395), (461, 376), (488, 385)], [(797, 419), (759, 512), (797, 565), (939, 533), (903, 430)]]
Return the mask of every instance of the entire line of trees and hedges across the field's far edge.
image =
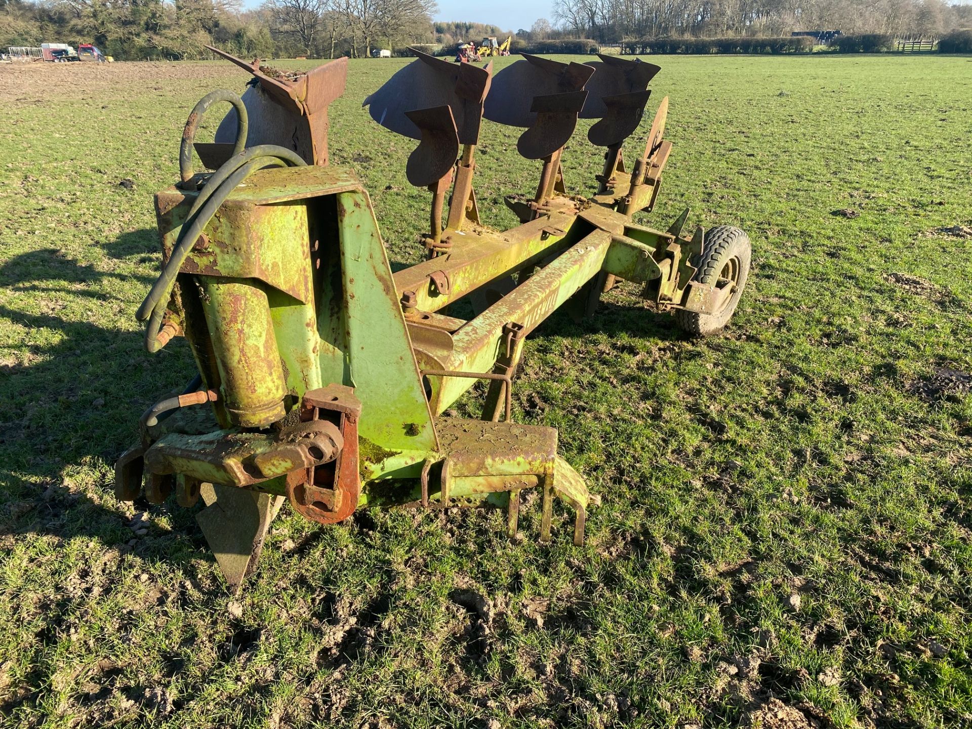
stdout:
[[(0, 49), (94, 43), (126, 59), (369, 56), (413, 44), (453, 46), (485, 36), (523, 43), (576, 38), (601, 45), (657, 38), (772, 37), (799, 30), (893, 36), (972, 27), (972, 4), (945, 0), (554, 0), (551, 23), (527, 29), (433, 22), (434, 0), (0, 0)], [(515, 50), (515, 46), (514, 46)]]

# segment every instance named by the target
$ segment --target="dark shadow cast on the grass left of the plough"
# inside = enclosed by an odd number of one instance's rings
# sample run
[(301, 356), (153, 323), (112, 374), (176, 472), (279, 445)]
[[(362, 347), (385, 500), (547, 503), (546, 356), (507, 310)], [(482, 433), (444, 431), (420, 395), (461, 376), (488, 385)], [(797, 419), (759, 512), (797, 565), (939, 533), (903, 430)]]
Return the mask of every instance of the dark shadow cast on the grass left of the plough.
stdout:
[[(143, 233), (122, 235), (106, 248), (114, 256), (136, 254), (144, 250)], [(0, 350), (0, 400), (5, 403), (0, 409), (0, 483), (5, 485), (0, 502), (7, 506), (0, 514), (0, 532), (89, 535), (109, 545), (132, 537), (121, 510), (72, 493), (68, 484), (93, 481), (110, 490), (116, 459), (137, 440), (141, 412), (184, 385), (194, 367), (185, 343), (152, 358), (143, 349), (140, 331), (101, 324), (115, 319), (114, 312), (104, 313), (104, 306), (117, 297), (87, 287), (106, 280), (150, 283), (149, 277), (101, 271), (55, 249), (31, 251), (0, 266), (0, 287), (7, 292), (46, 294), (8, 296), (0, 304), (0, 322), (17, 342), (8, 353)], [(69, 305), (71, 315), (62, 316)], [(5, 356), (15, 351), (18, 360)], [(185, 520), (184, 532), (194, 538), (189, 519), (188, 513), (173, 514), (177, 529)], [(160, 547), (159, 554), (173, 551), (186, 553), (169, 545)]]

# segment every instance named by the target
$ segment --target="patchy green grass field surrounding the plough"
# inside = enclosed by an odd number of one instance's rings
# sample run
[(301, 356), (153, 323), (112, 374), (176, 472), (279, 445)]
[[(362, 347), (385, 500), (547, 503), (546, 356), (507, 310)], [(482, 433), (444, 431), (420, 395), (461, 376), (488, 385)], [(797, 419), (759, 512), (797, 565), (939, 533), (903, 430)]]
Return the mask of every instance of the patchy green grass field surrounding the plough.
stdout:
[[(428, 193), (361, 108), (402, 62), (352, 61), (330, 149), (408, 263)], [(711, 339), (622, 286), (528, 341), (515, 416), (560, 429), (603, 495), (587, 544), (562, 521), (538, 545), (536, 503), (513, 542), (501, 513), (324, 529), (285, 508), (235, 601), (191, 511), (111, 481), (192, 373), (133, 318), (152, 194), (192, 104), (247, 75), (0, 67), (0, 725), (972, 722), (972, 59), (660, 64), (675, 148), (645, 222), (742, 226), (754, 270)], [(585, 130), (578, 193), (601, 166)], [(517, 133), (484, 134), (493, 226), (536, 186)]]

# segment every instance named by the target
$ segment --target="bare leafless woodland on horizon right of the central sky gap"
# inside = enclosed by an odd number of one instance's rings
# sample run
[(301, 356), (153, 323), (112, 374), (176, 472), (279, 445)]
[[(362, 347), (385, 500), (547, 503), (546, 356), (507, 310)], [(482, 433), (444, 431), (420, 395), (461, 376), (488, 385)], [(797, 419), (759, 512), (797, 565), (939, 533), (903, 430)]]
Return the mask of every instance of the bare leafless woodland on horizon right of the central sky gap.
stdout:
[(786, 36), (793, 31), (939, 35), (972, 26), (943, 0), (556, 0), (562, 33), (601, 44), (639, 38)]

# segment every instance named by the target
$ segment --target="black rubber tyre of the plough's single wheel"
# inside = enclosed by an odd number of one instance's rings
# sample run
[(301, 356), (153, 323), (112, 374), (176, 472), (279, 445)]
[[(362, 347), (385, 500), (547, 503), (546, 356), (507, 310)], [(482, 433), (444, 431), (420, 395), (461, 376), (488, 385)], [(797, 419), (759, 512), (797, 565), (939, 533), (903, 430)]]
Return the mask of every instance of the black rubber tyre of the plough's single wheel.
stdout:
[(744, 230), (732, 226), (715, 226), (706, 233), (702, 255), (695, 263), (698, 270), (693, 281), (709, 286), (733, 286), (733, 293), (714, 314), (699, 314), (677, 309), (675, 321), (682, 330), (694, 336), (705, 336), (722, 330), (732, 319), (746, 288), (752, 247)]

